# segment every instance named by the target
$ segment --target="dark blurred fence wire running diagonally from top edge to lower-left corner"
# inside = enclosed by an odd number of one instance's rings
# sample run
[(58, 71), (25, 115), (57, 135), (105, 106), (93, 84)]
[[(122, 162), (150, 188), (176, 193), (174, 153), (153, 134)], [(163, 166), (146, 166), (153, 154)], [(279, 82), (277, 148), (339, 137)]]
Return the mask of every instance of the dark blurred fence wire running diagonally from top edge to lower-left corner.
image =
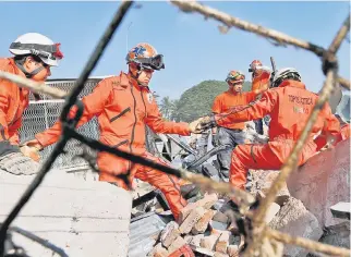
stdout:
[(116, 32), (117, 27), (122, 22), (125, 13), (132, 7), (132, 3), (133, 3), (132, 1), (123, 1), (120, 4), (120, 8), (118, 9), (117, 13), (114, 14), (114, 16), (113, 16), (111, 23), (109, 24), (108, 28), (104, 33), (101, 39), (99, 40), (98, 46), (96, 47), (96, 49), (94, 50), (92, 57), (89, 58), (89, 60), (88, 60), (85, 69), (83, 70), (82, 75), (80, 76), (76, 85), (73, 87), (72, 91), (69, 94), (69, 96), (66, 98), (66, 101), (65, 101), (66, 103), (65, 103), (65, 106), (64, 106), (64, 108), (62, 110), (62, 113), (61, 113), (61, 120), (63, 122), (63, 133), (62, 133), (61, 138), (59, 139), (59, 142), (56, 145), (56, 147), (52, 149), (52, 151), (51, 151), (50, 156), (48, 157), (48, 159), (43, 164), (40, 171), (37, 173), (35, 179), (31, 183), (31, 185), (24, 192), (24, 194), (22, 195), (21, 199), (15, 205), (15, 207), (10, 212), (10, 215), (8, 216), (8, 218), (4, 220), (4, 222), (2, 223), (2, 225), (0, 228), (0, 256), (3, 256), (4, 240), (5, 240), (5, 236), (7, 236), (7, 231), (9, 229), (9, 225), (16, 218), (16, 216), (20, 213), (21, 209), (25, 206), (25, 204), (29, 200), (29, 198), (32, 197), (32, 195), (34, 194), (36, 188), (41, 184), (45, 175), (49, 172), (53, 161), (62, 152), (62, 150), (64, 149), (65, 144), (70, 139), (70, 135), (65, 134), (64, 132), (70, 126), (73, 126), (73, 128), (74, 128), (75, 125), (76, 125), (75, 124), (76, 121), (74, 122), (74, 121), (66, 120), (65, 119), (66, 114), (68, 114), (70, 108), (76, 101), (76, 97), (78, 96), (80, 91), (83, 89), (85, 81), (88, 78), (88, 76), (92, 73), (93, 69), (97, 64), (98, 59), (102, 54), (105, 48), (107, 47), (108, 42), (110, 41), (110, 39), (111, 39), (113, 33)]

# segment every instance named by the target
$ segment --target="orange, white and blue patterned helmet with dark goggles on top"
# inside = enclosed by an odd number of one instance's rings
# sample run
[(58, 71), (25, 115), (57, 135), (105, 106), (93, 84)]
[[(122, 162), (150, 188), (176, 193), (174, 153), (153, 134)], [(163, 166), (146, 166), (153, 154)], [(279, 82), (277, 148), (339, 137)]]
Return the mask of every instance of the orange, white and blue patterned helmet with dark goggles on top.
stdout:
[(165, 69), (164, 56), (158, 54), (156, 49), (147, 44), (140, 42), (133, 47), (125, 57), (126, 64), (136, 63), (141, 68), (150, 70)]

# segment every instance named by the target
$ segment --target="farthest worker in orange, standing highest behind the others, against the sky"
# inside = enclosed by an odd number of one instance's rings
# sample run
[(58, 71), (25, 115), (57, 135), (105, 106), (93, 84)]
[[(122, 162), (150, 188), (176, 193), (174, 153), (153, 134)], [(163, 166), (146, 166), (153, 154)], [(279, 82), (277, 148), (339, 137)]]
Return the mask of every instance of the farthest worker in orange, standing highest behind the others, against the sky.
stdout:
[[(257, 91), (257, 90), (264, 91), (264, 90), (268, 89), (269, 78), (270, 78), (269, 68), (263, 66), (261, 61), (254, 60), (250, 64), (249, 72), (252, 73), (251, 78), (252, 78), (252, 90), (253, 91)], [(268, 117), (266, 117), (266, 119), (268, 119)], [(264, 119), (258, 119), (253, 122), (255, 123), (256, 132), (259, 135), (263, 135), (264, 134), (264, 128), (263, 128)]]

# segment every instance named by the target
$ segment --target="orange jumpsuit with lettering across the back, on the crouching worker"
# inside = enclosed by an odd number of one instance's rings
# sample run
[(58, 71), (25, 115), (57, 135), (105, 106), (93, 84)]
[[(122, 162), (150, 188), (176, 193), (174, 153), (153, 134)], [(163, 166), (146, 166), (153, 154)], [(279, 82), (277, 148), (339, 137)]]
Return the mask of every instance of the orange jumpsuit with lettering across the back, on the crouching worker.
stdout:
[[(261, 100), (252, 107), (228, 115), (215, 115), (218, 125), (256, 120), (266, 114), (271, 117), (268, 144), (239, 145), (233, 150), (230, 183), (244, 188), (249, 169), (279, 170), (304, 128), (317, 98), (316, 94), (305, 89), (303, 83), (285, 81), (279, 87), (263, 93)], [(332, 135), (340, 130), (340, 123), (332, 115), (328, 103), (323, 108), (310, 138), (299, 155), (299, 166), (316, 152), (313, 138), (320, 130)]]

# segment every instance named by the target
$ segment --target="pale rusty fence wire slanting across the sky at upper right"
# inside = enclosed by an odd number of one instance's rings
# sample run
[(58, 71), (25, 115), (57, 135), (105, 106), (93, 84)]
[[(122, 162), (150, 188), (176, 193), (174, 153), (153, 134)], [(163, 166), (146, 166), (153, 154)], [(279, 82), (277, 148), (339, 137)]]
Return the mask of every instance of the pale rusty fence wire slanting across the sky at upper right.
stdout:
[[(316, 56), (318, 56), (320, 58), (324, 57), (324, 54), (326, 52), (326, 49), (324, 49), (320, 46), (314, 45), (308, 41), (304, 41), (302, 39), (291, 37), (287, 34), (277, 32), (271, 28), (266, 28), (261, 25), (256, 25), (256, 24), (240, 20), (240, 19), (231, 16), (225, 12), (203, 5), (196, 1), (174, 1), (174, 0), (171, 0), (170, 2), (174, 5), (177, 5), (183, 12), (186, 12), (186, 13), (197, 12), (197, 13), (203, 14), (206, 19), (213, 17), (214, 20), (217, 20), (217, 21), (223, 23), (229, 28), (237, 27), (242, 30), (251, 32), (251, 33), (257, 34), (259, 36), (263, 36), (265, 38), (275, 40), (275, 41), (277, 41), (276, 46), (291, 45), (291, 46), (300, 47), (302, 49), (314, 52)], [(340, 29), (340, 33), (341, 33), (340, 35), (343, 35), (349, 29), (350, 29), (350, 17), (349, 17), (349, 20), (346, 20), (346, 22), (343, 23), (343, 26)], [(337, 40), (337, 45), (336, 45), (337, 48), (336, 49), (338, 49), (341, 44), (341, 40), (340, 39), (336, 39), (336, 40)], [(342, 87), (350, 90), (350, 81), (342, 78), (342, 77), (339, 77), (338, 81)]]

